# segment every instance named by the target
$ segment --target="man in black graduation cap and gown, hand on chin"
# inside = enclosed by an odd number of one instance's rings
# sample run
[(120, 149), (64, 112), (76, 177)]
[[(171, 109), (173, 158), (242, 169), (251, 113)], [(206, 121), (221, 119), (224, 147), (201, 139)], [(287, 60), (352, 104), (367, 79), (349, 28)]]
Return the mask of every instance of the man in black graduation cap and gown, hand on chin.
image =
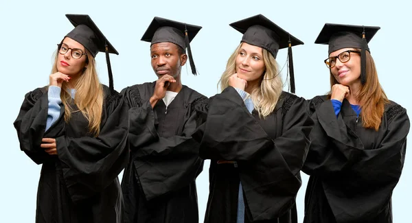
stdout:
[(182, 85), (181, 67), (200, 26), (155, 17), (141, 40), (150, 42), (158, 80), (122, 91), (129, 104), (131, 159), (124, 172), (125, 222), (198, 222), (196, 177), (203, 169), (196, 104), (205, 96)]

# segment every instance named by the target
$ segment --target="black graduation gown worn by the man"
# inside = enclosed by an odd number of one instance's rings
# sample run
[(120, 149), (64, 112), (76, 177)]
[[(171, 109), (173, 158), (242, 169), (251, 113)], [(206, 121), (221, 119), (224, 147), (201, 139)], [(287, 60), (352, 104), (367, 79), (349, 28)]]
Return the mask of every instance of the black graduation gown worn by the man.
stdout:
[(124, 222), (198, 222), (196, 177), (203, 169), (194, 106), (207, 97), (183, 86), (166, 109), (149, 99), (156, 82), (130, 86), (122, 93), (130, 106), (130, 162), (124, 171)]

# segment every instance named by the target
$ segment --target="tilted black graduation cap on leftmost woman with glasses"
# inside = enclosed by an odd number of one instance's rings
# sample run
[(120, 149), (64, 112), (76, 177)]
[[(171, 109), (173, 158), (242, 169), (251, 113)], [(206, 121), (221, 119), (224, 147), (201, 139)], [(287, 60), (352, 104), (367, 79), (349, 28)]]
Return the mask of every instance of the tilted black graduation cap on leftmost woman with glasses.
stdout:
[(106, 62), (108, 69), (108, 82), (111, 93), (114, 93), (113, 87), (113, 74), (111, 71), (110, 58), (108, 54), (117, 54), (117, 50), (106, 37), (100, 32), (99, 28), (90, 16), (87, 14), (66, 14), (67, 19), (74, 25), (74, 29), (69, 32), (65, 37), (72, 38), (78, 43), (82, 44), (93, 57), (98, 54), (99, 51), (106, 53)]

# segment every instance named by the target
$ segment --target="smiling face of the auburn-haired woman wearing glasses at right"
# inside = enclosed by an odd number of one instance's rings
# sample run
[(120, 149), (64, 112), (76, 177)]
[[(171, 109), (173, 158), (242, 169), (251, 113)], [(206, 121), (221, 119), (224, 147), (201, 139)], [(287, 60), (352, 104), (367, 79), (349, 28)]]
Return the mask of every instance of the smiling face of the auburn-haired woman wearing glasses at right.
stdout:
[[(354, 48), (344, 48), (336, 50), (330, 53), (329, 57), (338, 56), (344, 51), (347, 50), (356, 50)], [(361, 82), (361, 55), (351, 52), (350, 60), (347, 62), (341, 62), (339, 59), (336, 59), (334, 67), (330, 69), (334, 78), (345, 86), (350, 86), (356, 82)]]

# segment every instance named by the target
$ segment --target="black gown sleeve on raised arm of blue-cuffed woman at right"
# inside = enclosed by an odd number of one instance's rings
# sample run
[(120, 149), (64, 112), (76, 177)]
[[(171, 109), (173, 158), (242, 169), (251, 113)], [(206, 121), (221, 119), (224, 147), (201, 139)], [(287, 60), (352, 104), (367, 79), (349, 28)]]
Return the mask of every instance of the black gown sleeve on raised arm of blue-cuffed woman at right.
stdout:
[(330, 100), (315, 97), (308, 103), (314, 128), (310, 134), (312, 143), (303, 171), (309, 175), (317, 172), (328, 176), (339, 173), (356, 161), (363, 150), (363, 143), (346, 126), (341, 115), (336, 118)]

